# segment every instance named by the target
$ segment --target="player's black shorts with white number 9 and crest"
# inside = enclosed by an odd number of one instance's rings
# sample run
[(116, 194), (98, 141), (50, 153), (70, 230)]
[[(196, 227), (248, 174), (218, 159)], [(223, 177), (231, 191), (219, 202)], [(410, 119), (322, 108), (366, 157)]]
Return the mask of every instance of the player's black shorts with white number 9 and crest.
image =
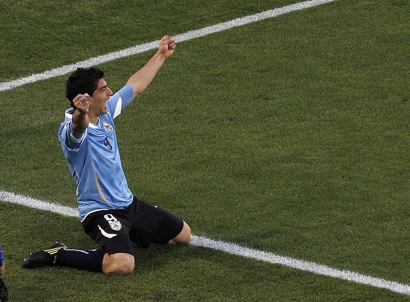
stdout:
[(183, 228), (182, 219), (173, 213), (135, 197), (128, 208), (93, 212), (82, 224), (86, 234), (110, 255), (134, 255), (131, 242), (142, 248), (166, 244)]

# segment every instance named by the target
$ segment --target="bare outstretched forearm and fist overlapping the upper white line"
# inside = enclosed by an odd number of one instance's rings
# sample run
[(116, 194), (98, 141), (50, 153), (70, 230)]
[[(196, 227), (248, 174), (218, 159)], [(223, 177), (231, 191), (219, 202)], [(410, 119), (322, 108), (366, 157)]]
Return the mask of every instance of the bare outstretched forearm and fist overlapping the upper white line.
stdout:
[(127, 85), (130, 85), (134, 90), (134, 98), (145, 91), (148, 85), (152, 82), (163, 62), (174, 53), (176, 44), (175, 39), (169, 36), (164, 36), (159, 41), (157, 53), (142, 67), (139, 71), (133, 74)]

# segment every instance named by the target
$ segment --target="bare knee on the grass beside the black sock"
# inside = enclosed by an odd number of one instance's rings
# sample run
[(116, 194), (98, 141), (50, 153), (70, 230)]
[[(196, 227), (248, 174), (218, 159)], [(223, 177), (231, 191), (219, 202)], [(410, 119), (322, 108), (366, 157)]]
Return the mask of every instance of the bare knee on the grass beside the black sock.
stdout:
[(135, 269), (134, 256), (126, 253), (105, 254), (103, 272), (106, 274), (130, 274)]

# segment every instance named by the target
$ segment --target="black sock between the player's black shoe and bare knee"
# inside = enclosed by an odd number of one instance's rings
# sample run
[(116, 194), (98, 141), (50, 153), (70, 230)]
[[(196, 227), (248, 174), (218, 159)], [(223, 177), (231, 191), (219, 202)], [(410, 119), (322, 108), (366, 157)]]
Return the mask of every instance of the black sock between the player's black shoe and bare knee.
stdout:
[(57, 253), (55, 263), (57, 265), (74, 267), (77, 269), (87, 269), (94, 272), (103, 271), (103, 258), (106, 251), (95, 250), (74, 250), (60, 249)]

